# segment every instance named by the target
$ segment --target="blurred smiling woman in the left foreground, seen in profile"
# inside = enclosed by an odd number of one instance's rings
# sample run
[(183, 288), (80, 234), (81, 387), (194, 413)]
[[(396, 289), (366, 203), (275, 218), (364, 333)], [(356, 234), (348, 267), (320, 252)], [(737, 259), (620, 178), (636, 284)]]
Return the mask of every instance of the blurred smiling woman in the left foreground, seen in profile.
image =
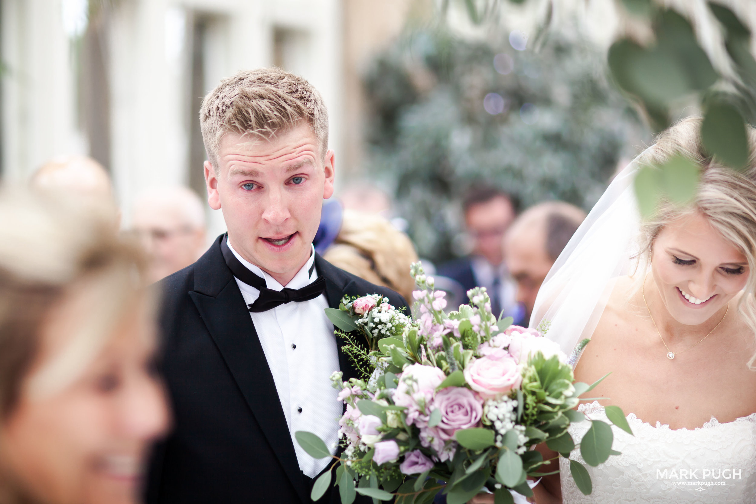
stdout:
[(102, 215), (0, 194), (0, 502), (138, 502), (169, 424), (140, 255)]

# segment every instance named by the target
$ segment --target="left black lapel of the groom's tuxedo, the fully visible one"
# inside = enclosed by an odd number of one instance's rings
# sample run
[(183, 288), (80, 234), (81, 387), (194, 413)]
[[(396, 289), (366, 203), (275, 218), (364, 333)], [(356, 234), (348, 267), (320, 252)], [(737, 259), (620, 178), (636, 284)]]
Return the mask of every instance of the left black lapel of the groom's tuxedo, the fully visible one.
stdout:
[[(220, 237), (197, 261), (189, 295), (234, 376), (249, 409), (283, 466), (302, 502), (309, 490), (299, 471), (286, 417), (255, 326), (231, 271), (223, 259)], [(254, 456), (250, 453), (249, 456)]]

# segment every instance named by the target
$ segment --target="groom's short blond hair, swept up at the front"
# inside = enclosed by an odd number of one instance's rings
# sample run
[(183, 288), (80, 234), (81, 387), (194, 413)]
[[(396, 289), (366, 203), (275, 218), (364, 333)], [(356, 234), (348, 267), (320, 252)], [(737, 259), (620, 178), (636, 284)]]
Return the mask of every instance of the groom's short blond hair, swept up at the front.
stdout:
[(200, 108), (200, 128), (215, 172), (218, 147), (228, 133), (269, 140), (308, 124), (321, 147), (328, 148), (328, 111), (323, 97), (302, 77), (280, 68), (241, 70), (210, 91)]

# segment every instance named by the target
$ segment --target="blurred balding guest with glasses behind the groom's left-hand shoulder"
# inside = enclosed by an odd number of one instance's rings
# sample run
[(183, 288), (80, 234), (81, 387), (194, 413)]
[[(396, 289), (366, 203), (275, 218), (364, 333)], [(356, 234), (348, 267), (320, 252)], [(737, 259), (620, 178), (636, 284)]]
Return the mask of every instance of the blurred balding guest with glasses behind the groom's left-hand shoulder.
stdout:
[(197, 261), (205, 252), (205, 209), (187, 187), (150, 187), (132, 207), (132, 230), (149, 258), (156, 282)]

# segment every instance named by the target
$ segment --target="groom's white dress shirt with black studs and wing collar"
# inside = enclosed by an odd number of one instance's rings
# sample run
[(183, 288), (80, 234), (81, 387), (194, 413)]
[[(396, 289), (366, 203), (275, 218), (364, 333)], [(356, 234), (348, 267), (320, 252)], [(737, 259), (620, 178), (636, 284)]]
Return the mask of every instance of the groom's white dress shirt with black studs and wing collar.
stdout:
[[(231, 243), (228, 248), (249, 271), (265, 278), (268, 289), (281, 290), (284, 286), (259, 267), (239, 255)], [(318, 278), (318, 271), (310, 267), (315, 260), (314, 249), (307, 263), (286, 285), (302, 289)], [(235, 278), (235, 277), (234, 277)], [(244, 302), (256, 301), (260, 291), (235, 278), (244, 296)], [(283, 414), (286, 416), (299, 468), (310, 478), (317, 476), (331, 459), (313, 459), (294, 438), (296, 431), (310, 431), (325, 441), (331, 453), (332, 445), (339, 440), (337, 420), (342, 414), (339, 394), (331, 386), (330, 375), (339, 370), (339, 352), (333, 324), (326, 317), (328, 301), (325, 293), (309, 301), (291, 301), (268, 311), (249, 313), (257, 336), (271, 368)]]

